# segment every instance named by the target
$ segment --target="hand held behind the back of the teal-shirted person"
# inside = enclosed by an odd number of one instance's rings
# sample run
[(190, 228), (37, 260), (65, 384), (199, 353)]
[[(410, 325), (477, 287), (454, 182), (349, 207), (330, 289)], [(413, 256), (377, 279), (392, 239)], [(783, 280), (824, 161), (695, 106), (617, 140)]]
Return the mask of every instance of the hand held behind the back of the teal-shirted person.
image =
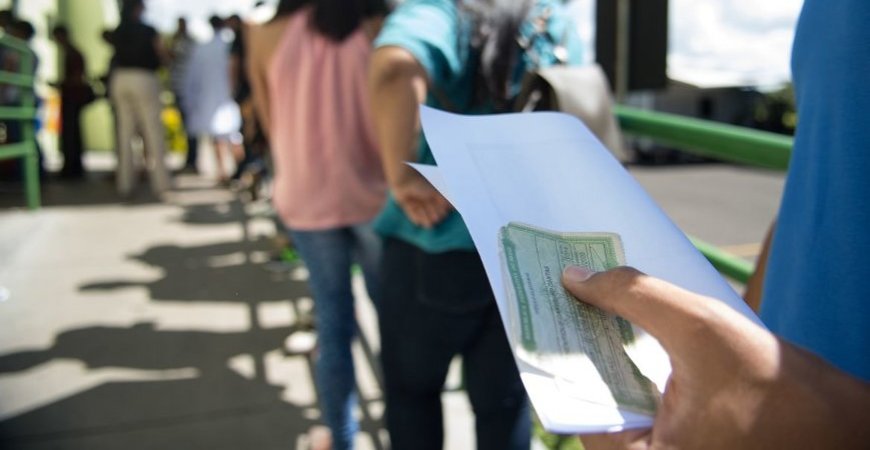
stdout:
[(411, 222), (432, 228), (447, 217), (450, 203), (417, 171), (405, 166), (397, 178), (390, 182), (390, 189)]

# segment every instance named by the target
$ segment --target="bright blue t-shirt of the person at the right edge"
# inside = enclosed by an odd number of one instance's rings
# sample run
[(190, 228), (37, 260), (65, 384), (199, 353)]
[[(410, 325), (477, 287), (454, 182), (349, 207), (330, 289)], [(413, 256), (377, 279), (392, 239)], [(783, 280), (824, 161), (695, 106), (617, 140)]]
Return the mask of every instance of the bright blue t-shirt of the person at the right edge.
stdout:
[(792, 52), (799, 123), (761, 318), (870, 380), (870, 2), (807, 0)]

